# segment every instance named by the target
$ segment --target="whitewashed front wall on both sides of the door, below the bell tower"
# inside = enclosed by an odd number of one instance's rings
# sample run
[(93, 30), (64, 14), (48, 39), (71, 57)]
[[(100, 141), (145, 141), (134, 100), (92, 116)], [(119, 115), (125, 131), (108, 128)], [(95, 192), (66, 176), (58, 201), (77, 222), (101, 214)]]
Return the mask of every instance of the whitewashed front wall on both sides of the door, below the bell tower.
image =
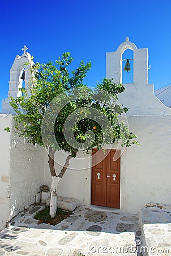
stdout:
[[(127, 122), (129, 129), (138, 135), (140, 146), (121, 151), (121, 209), (139, 212), (150, 201), (171, 204), (171, 115), (132, 116), (127, 117)], [(59, 151), (55, 159), (64, 163), (65, 158)], [(76, 159), (72, 160), (73, 170), (66, 171), (59, 183), (58, 195), (91, 205), (91, 168), (75, 170), (74, 162), (78, 164)], [(83, 159), (78, 167), (85, 168), (88, 164), (89, 160)], [(48, 166), (45, 180), (50, 185)]]

